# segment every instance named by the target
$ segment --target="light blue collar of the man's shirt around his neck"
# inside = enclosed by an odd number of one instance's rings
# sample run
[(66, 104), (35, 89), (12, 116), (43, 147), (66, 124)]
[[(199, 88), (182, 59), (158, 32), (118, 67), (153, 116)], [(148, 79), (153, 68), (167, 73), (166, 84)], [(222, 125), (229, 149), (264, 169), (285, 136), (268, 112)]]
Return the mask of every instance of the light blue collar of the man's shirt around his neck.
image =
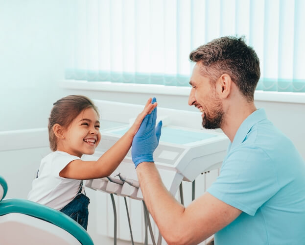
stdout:
[(232, 145), (229, 146), (229, 150), (233, 149), (234, 147), (240, 145), (244, 139), (246, 138), (247, 134), (251, 130), (254, 124), (267, 119), (267, 115), (264, 109), (258, 109), (252, 112), (239, 126), (237, 132), (235, 134), (234, 140)]

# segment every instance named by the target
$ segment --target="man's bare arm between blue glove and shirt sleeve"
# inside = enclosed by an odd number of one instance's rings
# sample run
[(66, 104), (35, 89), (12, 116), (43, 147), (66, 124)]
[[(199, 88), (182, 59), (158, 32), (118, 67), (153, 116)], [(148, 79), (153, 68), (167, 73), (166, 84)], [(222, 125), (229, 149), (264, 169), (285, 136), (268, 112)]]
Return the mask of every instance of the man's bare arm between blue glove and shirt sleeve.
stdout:
[(169, 245), (198, 244), (241, 214), (209, 193), (185, 208), (166, 190), (154, 163), (139, 164), (137, 174), (147, 208)]

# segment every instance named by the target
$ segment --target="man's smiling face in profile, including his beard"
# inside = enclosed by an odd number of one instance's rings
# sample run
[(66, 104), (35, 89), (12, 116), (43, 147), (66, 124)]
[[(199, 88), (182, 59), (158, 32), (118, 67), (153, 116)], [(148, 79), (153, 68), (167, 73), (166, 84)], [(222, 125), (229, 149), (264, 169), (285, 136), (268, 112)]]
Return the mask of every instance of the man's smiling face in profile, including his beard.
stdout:
[(202, 126), (207, 129), (221, 127), (223, 118), (222, 101), (216, 94), (215, 85), (208, 77), (200, 73), (198, 62), (195, 64), (189, 84), (192, 89), (188, 98), (188, 105), (196, 106), (202, 112)]

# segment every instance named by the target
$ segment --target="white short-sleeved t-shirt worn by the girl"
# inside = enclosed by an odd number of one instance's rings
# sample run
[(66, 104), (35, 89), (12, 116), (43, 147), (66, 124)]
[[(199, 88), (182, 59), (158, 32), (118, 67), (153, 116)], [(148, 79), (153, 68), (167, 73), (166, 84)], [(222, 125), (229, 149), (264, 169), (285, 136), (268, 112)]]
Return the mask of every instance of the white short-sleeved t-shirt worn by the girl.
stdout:
[(27, 199), (57, 210), (65, 207), (77, 195), (81, 181), (60, 177), (59, 172), (76, 159), (80, 158), (58, 150), (45, 156)]

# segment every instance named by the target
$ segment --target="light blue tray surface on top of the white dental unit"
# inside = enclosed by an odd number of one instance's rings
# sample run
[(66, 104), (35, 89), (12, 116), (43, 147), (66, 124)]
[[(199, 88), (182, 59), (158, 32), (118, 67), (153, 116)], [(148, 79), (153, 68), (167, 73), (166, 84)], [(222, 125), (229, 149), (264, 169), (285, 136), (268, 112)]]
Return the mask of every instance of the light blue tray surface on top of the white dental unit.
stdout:
[[(111, 133), (122, 136), (124, 133), (127, 132), (128, 129), (129, 128), (124, 128), (117, 131), (115, 130)], [(185, 145), (188, 143), (206, 140), (216, 136), (217, 135), (194, 132), (179, 128), (162, 127), (160, 141), (178, 145)]]

